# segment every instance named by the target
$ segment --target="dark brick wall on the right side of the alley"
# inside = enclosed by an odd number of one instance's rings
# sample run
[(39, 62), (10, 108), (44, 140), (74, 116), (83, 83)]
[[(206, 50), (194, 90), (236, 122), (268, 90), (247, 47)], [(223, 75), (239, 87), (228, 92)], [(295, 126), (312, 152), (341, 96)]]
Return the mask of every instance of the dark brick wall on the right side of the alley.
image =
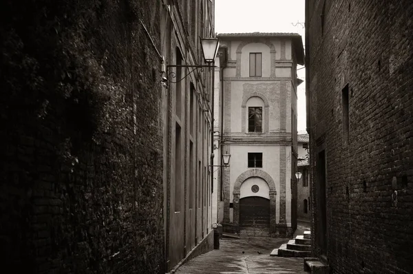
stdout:
[(313, 252), (322, 253), (316, 159), (325, 147), (325, 255), (334, 273), (413, 269), (412, 14), (408, 0), (306, 1)]

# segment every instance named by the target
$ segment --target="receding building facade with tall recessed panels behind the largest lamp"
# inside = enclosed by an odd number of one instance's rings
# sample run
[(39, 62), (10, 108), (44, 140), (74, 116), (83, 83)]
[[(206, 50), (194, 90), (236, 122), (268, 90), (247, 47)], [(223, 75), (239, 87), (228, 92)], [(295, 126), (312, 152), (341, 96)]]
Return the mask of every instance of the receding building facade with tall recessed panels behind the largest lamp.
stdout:
[(207, 65), (200, 38), (215, 36), (214, 1), (162, 1), (161, 30), (162, 75), (167, 78), (162, 88), (162, 125), (169, 271), (189, 254), (194, 257), (213, 249), (214, 189), (209, 165), (214, 73), (213, 68), (191, 66)]

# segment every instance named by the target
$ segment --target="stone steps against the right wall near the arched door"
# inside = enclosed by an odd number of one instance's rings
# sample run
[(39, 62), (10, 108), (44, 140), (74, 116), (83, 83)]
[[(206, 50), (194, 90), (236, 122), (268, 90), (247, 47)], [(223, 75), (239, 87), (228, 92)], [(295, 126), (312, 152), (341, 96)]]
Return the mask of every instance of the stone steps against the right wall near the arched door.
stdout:
[(297, 235), (294, 240), (282, 244), (274, 249), (271, 256), (279, 257), (310, 257), (311, 255), (311, 232), (304, 231), (304, 235)]

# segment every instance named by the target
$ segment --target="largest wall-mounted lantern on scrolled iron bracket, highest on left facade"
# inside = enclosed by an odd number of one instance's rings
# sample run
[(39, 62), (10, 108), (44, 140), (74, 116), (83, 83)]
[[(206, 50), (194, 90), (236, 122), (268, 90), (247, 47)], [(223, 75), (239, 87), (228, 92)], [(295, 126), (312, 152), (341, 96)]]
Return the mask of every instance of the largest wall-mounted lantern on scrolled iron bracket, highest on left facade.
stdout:
[[(200, 71), (202, 72), (204, 70), (204, 67), (215, 67), (215, 65), (212, 65), (212, 63), (215, 61), (215, 57), (218, 53), (218, 48), (220, 48), (220, 42), (218, 41), (218, 38), (201, 38), (201, 48), (202, 54), (204, 55), (204, 61), (208, 65), (167, 65), (167, 77), (162, 78), (162, 82), (179, 83), (180, 81), (184, 80), (184, 78), (187, 78), (187, 76), (194, 70), (200, 69)], [(191, 68), (192, 70), (190, 70), (182, 78), (176, 79), (176, 81), (172, 81), (172, 78), (176, 78), (176, 72), (169, 72), (169, 67), (187, 67)]]

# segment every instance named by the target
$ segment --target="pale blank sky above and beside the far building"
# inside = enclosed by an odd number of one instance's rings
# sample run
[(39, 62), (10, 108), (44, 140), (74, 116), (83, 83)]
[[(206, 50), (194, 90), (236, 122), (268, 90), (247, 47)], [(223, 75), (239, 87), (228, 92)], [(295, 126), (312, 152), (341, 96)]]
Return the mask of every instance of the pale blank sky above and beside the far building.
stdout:
[[(294, 32), (304, 44), (305, 0), (215, 0), (215, 32)], [(299, 65), (297, 68), (300, 68)], [(306, 70), (297, 71), (305, 80)], [(298, 130), (306, 129), (306, 83), (298, 87)]]

